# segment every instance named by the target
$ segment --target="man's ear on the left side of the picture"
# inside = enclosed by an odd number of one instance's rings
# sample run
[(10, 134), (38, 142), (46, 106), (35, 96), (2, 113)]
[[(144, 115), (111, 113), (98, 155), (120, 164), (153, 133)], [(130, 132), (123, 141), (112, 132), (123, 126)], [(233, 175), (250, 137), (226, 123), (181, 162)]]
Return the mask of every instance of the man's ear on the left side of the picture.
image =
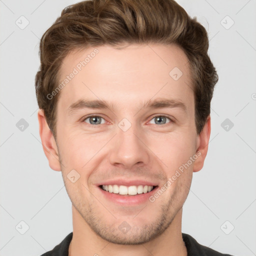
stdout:
[(57, 145), (53, 137), (53, 134), (46, 122), (44, 111), (42, 109), (38, 110), (37, 117), (39, 122), (39, 133), (42, 141), (42, 148), (44, 154), (48, 159), (50, 168), (59, 171), (61, 170), (61, 168)]

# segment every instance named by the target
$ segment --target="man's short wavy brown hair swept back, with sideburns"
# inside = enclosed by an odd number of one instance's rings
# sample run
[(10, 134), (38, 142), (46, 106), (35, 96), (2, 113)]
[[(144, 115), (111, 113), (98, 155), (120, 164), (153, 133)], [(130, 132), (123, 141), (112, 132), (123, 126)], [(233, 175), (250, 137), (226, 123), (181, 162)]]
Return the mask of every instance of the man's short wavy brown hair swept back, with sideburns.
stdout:
[(174, 43), (184, 50), (192, 76), (196, 132), (201, 132), (218, 75), (207, 54), (207, 32), (196, 17), (174, 0), (85, 0), (65, 7), (40, 40), (36, 97), (54, 137), (59, 93), (52, 99), (47, 95), (58, 86), (63, 58), (76, 48), (148, 42)]

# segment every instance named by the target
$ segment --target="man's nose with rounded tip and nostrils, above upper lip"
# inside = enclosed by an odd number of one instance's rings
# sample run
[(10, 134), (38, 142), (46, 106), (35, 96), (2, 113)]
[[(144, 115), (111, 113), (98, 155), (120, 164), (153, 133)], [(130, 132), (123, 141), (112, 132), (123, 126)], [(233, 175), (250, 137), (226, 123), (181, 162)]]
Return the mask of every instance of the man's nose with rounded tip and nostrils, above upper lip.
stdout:
[(149, 149), (143, 140), (135, 127), (131, 126), (127, 131), (117, 127), (117, 134), (114, 136), (109, 153), (110, 163), (127, 169), (131, 169), (134, 165), (148, 164)]

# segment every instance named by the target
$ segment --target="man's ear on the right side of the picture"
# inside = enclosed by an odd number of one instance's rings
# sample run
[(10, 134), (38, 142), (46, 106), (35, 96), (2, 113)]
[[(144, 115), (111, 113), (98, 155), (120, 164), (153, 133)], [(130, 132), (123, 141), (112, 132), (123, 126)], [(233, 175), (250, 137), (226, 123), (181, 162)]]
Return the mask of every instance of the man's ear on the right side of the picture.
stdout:
[(194, 161), (193, 172), (199, 171), (203, 167), (204, 159), (208, 151), (208, 143), (210, 138), (210, 115), (206, 119), (200, 134), (197, 137), (197, 158)]

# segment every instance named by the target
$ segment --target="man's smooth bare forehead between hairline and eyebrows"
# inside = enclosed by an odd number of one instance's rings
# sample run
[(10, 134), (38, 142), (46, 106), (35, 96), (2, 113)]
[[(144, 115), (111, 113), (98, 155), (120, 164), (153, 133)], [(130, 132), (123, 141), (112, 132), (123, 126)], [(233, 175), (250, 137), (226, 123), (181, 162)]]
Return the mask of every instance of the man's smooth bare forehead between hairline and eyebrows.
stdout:
[[(193, 104), (189, 63), (176, 45), (109, 45), (73, 50), (60, 68), (58, 107), (78, 99), (101, 99), (131, 108), (153, 97), (174, 98)], [(135, 105), (134, 105), (135, 107)]]

